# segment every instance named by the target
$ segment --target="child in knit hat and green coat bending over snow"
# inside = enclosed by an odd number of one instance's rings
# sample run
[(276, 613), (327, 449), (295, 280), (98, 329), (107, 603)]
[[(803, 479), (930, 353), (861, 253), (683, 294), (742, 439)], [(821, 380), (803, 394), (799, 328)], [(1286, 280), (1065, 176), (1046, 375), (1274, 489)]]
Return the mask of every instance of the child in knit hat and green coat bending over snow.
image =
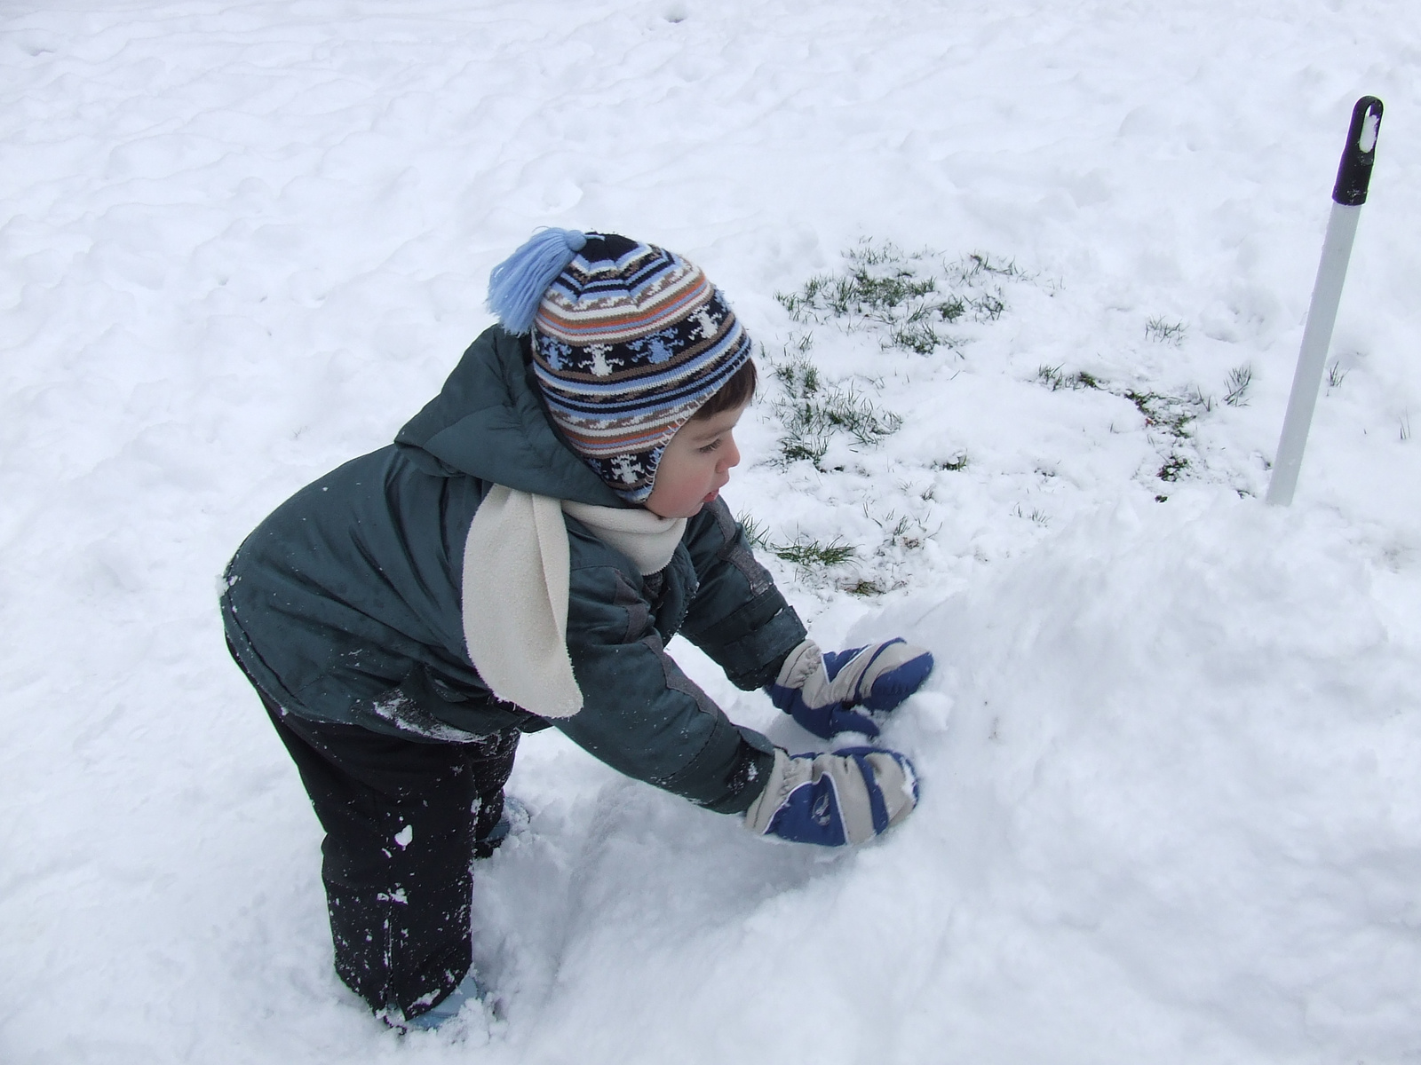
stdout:
[(681, 632), (824, 738), (877, 736), (932, 669), (902, 640), (821, 655), (750, 554), (719, 491), (755, 364), (705, 274), (543, 230), (489, 305), (439, 396), (263, 521), (222, 595), (325, 829), (335, 968), (401, 1030), (482, 997), (470, 859), (507, 831), (520, 733), (793, 842), (861, 843), (918, 795), (894, 751), (732, 724), (664, 650)]

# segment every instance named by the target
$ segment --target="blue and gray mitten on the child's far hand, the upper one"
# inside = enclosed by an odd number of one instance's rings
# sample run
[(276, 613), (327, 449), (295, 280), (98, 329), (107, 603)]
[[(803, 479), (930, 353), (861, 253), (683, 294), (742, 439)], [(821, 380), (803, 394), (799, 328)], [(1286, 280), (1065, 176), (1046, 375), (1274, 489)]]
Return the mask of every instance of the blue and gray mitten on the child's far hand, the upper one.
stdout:
[(828, 655), (804, 640), (784, 659), (770, 701), (826, 740), (838, 733), (874, 737), (878, 726), (870, 714), (892, 710), (931, 672), (932, 655), (901, 639)]

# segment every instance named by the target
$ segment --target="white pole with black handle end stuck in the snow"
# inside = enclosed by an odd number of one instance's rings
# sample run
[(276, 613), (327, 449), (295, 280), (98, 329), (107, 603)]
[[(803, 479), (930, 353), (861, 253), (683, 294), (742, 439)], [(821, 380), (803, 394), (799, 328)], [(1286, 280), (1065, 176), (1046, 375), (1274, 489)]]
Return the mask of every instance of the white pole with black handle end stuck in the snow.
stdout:
[(1361, 214), (1361, 204), (1367, 202), (1367, 185), (1371, 179), (1380, 125), (1381, 101), (1376, 97), (1358, 99), (1351, 109), (1347, 145), (1337, 168), (1333, 210), (1327, 219), (1327, 236), (1323, 237), (1323, 257), (1317, 264), (1313, 301), (1307, 308), (1307, 325), (1303, 328), (1303, 346), (1297, 352), (1297, 369), (1293, 372), (1293, 390), (1287, 396), (1283, 433), (1277, 440), (1277, 456), (1273, 459), (1273, 476), (1268, 481), (1268, 501), (1275, 506), (1290, 504), (1293, 490), (1297, 487), (1297, 471), (1303, 466), (1303, 449), (1307, 446), (1307, 430), (1312, 427), (1313, 410), (1317, 406), (1323, 365), (1327, 362), (1327, 348), (1331, 344), (1333, 325), (1337, 322), (1341, 285), (1347, 280), (1347, 261), (1351, 258), (1351, 244), (1357, 236), (1357, 216)]

